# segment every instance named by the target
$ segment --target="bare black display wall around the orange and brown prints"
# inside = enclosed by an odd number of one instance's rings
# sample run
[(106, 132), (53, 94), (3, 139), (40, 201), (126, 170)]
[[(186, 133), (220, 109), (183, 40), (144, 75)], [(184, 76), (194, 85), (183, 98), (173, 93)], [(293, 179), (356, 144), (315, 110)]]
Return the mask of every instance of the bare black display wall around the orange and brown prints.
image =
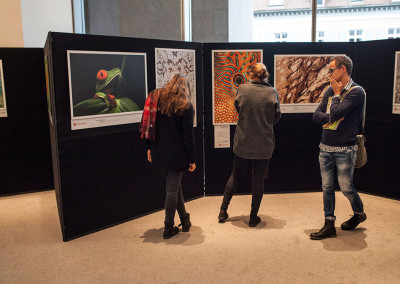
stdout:
[[(224, 192), (233, 165), (232, 143), (235, 125), (230, 126), (231, 147), (214, 148), (212, 124), (212, 51), (263, 50), (270, 83), (274, 82), (274, 55), (347, 54), (354, 62), (352, 78), (367, 91), (368, 163), (356, 169), (354, 182), (360, 191), (399, 198), (396, 165), (399, 151), (399, 116), (391, 113), (394, 78), (394, 52), (400, 40), (357, 43), (204, 43), (204, 127), (205, 188), (207, 195)], [(378, 51), (385, 52), (378, 52)], [(321, 127), (312, 121), (312, 113), (284, 113), (275, 126), (276, 148), (270, 161), (265, 192), (320, 191), (318, 154)], [(251, 145), (249, 145), (251, 147)], [(338, 187), (337, 187), (338, 188)], [(250, 193), (251, 176), (247, 172), (236, 193)]]

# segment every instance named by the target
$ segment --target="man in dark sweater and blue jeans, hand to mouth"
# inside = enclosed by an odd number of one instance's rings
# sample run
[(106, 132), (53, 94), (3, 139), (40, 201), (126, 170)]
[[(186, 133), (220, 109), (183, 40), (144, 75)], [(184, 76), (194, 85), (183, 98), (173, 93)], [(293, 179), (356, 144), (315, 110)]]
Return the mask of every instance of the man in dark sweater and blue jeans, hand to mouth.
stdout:
[(350, 201), (354, 215), (344, 222), (342, 230), (353, 230), (367, 219), (364, 206), (353, 185), (357, 151), (357, 133), (363, 117), (365, 92), (353, 82), (353, 62), (347, 56), (335, 56), (329, 63), (331, 87), (314, 112), (313, 120), (322, 124), (319, 163), (324, 197), (325, 225), (310, 238), (321, 240), (336, 237), (334, 171), (337, 169), (339, 186)]

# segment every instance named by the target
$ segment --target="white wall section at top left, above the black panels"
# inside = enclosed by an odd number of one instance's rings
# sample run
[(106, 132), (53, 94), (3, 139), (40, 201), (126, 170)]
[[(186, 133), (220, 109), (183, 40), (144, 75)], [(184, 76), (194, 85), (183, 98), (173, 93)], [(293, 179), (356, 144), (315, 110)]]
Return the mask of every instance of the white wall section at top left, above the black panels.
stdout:
[(71, 0), (21, 0), (24, 47), (43, 47), (47, 33), (73, 32)]

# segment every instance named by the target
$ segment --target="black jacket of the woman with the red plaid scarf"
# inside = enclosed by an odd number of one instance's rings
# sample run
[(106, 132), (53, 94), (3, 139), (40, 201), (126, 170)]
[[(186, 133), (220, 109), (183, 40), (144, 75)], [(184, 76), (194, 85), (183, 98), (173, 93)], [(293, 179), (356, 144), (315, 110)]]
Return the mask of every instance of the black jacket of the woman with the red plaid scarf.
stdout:
[(146, 140), (154, 167), (184, 171), (189, 163), (195, 163), (193, 114), (192, 105), (182, 115), (167, 116), (157, 112), (156, 138)]

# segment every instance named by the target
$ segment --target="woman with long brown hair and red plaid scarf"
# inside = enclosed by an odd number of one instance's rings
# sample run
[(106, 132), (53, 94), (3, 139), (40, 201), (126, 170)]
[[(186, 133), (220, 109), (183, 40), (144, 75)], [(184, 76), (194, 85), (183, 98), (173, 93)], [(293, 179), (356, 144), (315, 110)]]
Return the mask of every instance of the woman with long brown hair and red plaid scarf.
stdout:
[(184, 171), (196, 169), (194, 110), (189, 95), (188, 79), (176, 74), (163, 88), (149, 94), (143, 112), (141, 131), (146, 138), (147, 159), (161, 170), (166, 180), (164, 239), (179, 233), (179, 228), (174, 226), (175, 211), (178, 211), (182, 231), (188, 232), (191, 227), (181, 184)]

